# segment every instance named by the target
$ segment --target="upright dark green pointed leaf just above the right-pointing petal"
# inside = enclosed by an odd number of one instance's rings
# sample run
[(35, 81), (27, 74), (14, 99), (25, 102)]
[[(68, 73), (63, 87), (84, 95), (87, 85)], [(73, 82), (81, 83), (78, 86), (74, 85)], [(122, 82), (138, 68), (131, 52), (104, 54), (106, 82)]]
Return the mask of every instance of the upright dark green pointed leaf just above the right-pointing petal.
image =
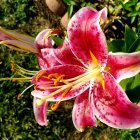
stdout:
[(125, 47), (126, 47), (125, 51), (130, 52), (130, 48), (132, 44), (137, 39), (137, 34), (128, 26), (125, 26), (124, 39), (125, 39)]

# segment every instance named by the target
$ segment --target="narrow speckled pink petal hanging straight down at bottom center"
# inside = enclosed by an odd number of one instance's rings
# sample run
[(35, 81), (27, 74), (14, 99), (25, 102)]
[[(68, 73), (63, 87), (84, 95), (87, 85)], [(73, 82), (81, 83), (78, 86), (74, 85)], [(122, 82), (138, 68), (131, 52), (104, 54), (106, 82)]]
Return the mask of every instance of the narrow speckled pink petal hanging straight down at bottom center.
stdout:
[(93, 107), (88, 100), (89, 90), (76, 97), (72, 119), (75, 128), (82, 132), (86, 126), (95, 126), (96, 119), (93, 113)]

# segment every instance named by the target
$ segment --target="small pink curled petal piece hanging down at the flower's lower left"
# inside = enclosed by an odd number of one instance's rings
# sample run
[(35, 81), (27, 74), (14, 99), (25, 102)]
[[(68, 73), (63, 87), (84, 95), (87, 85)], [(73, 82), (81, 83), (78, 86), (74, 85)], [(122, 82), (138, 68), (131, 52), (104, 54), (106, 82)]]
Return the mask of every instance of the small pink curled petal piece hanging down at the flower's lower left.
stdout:
[(33, 100), (33, 109), (34, 116), (39, 125), (48, 125), (48, 120), (46, 116), (46, 111), (48, 107), (48, 102), (45, 101), (42, 105), (37, 105), (38, 98), (34, 97)]

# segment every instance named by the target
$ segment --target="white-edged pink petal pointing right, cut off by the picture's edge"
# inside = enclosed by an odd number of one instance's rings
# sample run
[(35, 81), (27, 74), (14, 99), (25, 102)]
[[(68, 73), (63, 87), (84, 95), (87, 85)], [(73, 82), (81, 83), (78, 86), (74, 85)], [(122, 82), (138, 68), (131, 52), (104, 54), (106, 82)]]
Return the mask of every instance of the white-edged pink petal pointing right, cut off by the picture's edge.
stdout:
[(118, 82), (133, 77), (140, 72), (140, 52), (109, 53), (107, 67)]

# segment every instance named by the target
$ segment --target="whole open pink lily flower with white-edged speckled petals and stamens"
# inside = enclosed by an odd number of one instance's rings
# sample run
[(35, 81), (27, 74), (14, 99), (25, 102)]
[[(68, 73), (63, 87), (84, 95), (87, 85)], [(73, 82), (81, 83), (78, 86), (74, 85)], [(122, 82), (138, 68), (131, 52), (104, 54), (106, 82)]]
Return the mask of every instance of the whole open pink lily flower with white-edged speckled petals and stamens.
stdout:
[[(49, 101), (56, 102), (52, 106), (56, 110), (61, 101), (76, 97), (72, 119), (79, 131), (96, 126), (96, 118), (114, 128), (140, 127), (140, 107), (128, 99), (118, 84), (140, 72), (140, 52), (108, 53), (99, 25), (106, 17), (106, 8), (101, 11), (82, 8), (71, 18), (68, 39), (61, 46), (52, 49), (51, 42), (47, 49), (41, 48), (48, 65), (43, 67), (39, 59), (43, 70), (32, 79), (35, 116), (40, 125), (48, 124)], [(35, 44), (43, 36), (40, 33)], [(46, 41), (49, 44), (51, 40)]]

